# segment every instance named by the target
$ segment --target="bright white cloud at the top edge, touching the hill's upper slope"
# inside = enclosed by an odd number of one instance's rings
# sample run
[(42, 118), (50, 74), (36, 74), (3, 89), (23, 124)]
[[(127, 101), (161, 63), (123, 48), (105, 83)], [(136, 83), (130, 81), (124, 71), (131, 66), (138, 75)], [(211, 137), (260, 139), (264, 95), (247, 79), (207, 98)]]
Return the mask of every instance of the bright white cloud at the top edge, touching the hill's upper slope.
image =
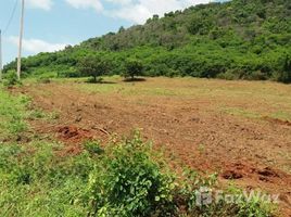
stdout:
[(119, 4), (119, 8), (106, 11), (105, 14), (143, 24), (153, 14), (164, 15), (166, 12), (182, 10), (190, 5), (208, 3), (210, 0), (106, 0)]

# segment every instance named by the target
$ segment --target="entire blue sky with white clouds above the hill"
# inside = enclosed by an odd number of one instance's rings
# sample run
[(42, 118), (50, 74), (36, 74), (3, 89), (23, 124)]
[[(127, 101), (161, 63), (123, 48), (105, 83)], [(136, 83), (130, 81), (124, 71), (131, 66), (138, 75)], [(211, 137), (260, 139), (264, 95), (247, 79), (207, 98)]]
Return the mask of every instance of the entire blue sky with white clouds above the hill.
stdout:
[[(143, 24), (153, 14), (162, 16), (207, 2), (210, 0), (25, 0), (23, 55), (62, 50), (67, 44), (117, 31), (121, 26)], [(20, 14), (21, 0), (0, 0), (4, 64), (17, 55)]]

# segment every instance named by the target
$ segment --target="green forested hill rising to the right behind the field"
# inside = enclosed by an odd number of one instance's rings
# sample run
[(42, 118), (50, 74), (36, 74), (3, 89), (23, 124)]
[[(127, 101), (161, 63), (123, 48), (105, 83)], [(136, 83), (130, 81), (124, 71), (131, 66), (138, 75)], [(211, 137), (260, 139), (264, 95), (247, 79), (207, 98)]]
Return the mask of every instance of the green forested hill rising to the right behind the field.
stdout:
[[(128, 59), (146, 76), (291, 80), (291, 0), (232, 0), (154, 15), (144, 25), (92, 38), (23, 61), (27, 75), (81, 76), (78, 63), (98, 55), (122, 74)], [(15, 62), (4, 69), (15, 68)]]

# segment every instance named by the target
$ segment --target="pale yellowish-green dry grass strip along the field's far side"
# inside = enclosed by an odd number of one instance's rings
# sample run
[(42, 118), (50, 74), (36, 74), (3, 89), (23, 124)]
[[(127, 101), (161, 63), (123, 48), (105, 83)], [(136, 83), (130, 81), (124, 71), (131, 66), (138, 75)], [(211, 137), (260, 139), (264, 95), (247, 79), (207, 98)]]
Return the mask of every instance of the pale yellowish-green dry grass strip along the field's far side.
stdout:
[(89, 93), (119, 94), (125, 98), (139, 95), (207, 100), (212, 102), (213, 110), (226, 114), (291, 120), (291, 86), (288, 85), (195, 78), (148, 78), (143, 82), (123, 82), (116, 76), (105, 80), (112, 84), (78, 84), (77, 88)]

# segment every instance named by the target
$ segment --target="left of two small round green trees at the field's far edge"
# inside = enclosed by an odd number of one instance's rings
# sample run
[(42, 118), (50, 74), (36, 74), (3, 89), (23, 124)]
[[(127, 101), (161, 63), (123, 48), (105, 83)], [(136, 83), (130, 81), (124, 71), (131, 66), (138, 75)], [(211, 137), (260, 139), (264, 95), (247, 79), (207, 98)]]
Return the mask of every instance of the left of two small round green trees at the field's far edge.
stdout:
[(110, 64), (100, 56), (86, 56), (79, 61), (78, 71), (84, 76), (92, 76), (93, 82), (97, 82), (98, 77), (109, 73)]

